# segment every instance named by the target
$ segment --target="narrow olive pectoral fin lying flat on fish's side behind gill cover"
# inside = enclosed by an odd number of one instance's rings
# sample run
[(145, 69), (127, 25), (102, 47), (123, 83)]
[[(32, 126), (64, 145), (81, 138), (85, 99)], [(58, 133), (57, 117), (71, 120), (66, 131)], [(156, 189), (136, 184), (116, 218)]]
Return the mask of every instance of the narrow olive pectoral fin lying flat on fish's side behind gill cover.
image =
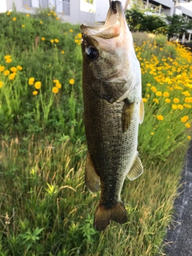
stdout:
[(133, 114), (134, 103), (129, 102), (126, 98), (122, 108), (122, 132), (124, 133), (130, 127), (130, 121)]

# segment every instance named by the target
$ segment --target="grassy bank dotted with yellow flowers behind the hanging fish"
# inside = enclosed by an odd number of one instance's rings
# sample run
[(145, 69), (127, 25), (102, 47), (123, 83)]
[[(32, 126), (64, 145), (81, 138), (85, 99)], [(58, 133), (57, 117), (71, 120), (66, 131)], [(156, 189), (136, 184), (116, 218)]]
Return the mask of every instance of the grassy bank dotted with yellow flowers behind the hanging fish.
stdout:
[(155, 255), (191, 132), (190, 52), (134, 34), (146, 117), (145, 173), (126, 181), (125, 225), (93, 229), (99, 193), (84, 184), (86, 141), (79, 26), (54, 11), (0, 15), (0, 255)]

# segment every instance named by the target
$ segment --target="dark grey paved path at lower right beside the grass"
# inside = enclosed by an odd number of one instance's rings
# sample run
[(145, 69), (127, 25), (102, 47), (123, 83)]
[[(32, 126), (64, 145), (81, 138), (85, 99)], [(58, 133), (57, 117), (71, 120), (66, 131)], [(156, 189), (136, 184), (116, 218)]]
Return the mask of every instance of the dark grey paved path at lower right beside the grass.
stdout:
[(181, 194), (174, 202), (174, 222), (165, 239), (167, 256), (192, 256), (192, 141), (181, 182)]

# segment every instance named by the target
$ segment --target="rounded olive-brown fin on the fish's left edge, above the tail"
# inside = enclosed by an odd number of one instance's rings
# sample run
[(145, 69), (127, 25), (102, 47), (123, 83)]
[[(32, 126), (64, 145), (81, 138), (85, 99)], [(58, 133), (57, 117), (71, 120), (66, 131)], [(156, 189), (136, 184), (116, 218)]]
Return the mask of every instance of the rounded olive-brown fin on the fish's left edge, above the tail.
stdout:
[(88, 190), (90, 190), (91, 192), (98, 192), (99, 177), (96, 171), (94, 170), (94, 165), (90, 158), (89, 151), (86, 155), (85, 182)]

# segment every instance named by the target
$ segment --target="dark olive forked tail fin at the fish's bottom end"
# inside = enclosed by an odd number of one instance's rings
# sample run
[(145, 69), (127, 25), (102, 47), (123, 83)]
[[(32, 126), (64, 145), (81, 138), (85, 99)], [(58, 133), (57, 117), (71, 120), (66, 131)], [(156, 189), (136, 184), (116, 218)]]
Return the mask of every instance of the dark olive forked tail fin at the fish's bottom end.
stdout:
[(127, 221), (126, 209), (122, 202), (118, 202), (111, 208), (98, 205), (94, 215), (95, 230), (105, 230), (106, 227), (110, 224), (110, 221), (118, 222), (121, 224)]

